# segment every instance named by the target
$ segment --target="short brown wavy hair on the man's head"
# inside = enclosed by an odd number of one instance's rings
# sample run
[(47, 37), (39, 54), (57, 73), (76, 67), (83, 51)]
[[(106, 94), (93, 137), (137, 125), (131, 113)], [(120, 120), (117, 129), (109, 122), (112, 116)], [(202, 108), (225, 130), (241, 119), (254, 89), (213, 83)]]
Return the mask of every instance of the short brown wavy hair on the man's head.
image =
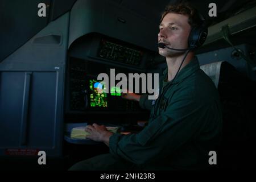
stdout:
[(164, 16), (166, 16), (168, 13), (187, 15), (188, 16), (188, 24), (191, 27), (199, 26), (203, 21), (203, 18), (201, 17), (199, 12), (195, 8), (193, 8), (191, 5), (189, 5), (188, 3), (179, 3), (179, 4), (166, 6), (166, 9), (162, 13), (160, 22), (162, 22)]

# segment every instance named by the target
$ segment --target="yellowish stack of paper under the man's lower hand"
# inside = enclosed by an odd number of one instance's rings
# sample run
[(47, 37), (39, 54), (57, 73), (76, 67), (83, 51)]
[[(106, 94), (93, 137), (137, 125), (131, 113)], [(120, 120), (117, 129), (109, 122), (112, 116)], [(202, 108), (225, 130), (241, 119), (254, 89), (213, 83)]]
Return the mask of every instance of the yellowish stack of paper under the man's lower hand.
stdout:
[[(117, 130), (119, 129), (118, 126), (107, 126), (106, 129), (112, 133), (117, 133)], [(71, 130), (71, 138), (72, 139), (86, 139), (86, 136), (89, 135), (87, 131), (85, 131), (85, 126), (80, 126), (80, 127), (74, 127)]]

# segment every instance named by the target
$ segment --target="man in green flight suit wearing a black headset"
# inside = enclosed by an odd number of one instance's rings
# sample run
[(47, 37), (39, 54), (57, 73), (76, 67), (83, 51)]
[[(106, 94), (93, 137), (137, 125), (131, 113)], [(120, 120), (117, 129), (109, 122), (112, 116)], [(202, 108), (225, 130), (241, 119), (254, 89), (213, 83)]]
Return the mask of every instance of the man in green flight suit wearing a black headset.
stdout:
[[(191, 6), (167, 6), (158, 42), (187, 49), (191, 30), (199, 23), (199, 14)], [(129, 135), (113, 134), (96, 123), (87, 126), (88, 138), (107, 144), (110, 153), (79, 162), (71, 170), (193, 170), (210, 166), (208, 154), (216, 150), (222, 126), (217, 89), (200, 69), (193, 50), (159, 47), (159, 54), (166, 57), (167, 68), (157, 100), (147, 100), (147, 95), (123, 96), (151, 110), (148, 125)]]

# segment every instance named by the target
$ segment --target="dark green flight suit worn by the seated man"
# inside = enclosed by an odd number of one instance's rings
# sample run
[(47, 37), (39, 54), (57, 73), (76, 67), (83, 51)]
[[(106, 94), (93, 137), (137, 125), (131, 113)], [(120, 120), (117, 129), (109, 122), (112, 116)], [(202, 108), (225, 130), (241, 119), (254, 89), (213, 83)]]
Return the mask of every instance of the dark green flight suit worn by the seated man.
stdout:
[[(159, 85), (156, 101), (147, 100), (147, 95), (140, 100), (141, 107), (151, 108), (148, 125), (138, 134), (112, 135), (110, 154), (95, 158), (98, 167), (93, 169), (193, 170), (210, 166), (208, 154), (216, 150), (222, 129), (220, 101), (212, 80), (195, 57), (174, 81), (163, 79)], [(100, 167), (106, 163), (115, 167)]]

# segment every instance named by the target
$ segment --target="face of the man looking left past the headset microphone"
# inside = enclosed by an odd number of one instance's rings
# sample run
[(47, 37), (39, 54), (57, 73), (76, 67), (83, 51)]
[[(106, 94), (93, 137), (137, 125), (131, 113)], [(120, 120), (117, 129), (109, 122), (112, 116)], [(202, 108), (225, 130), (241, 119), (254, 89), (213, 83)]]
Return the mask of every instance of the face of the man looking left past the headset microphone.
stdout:
[[(168, 13), (159, 25), (158, 43), (162, 42), (171, 48), (185, 49), (188, 47), (190, 31), (191, 26), (188, 24), (188, 16)], [(160, 47), (158, 52), (164, 57), (172, 57), (183, 53), (183, 51), (174, 51)]]

